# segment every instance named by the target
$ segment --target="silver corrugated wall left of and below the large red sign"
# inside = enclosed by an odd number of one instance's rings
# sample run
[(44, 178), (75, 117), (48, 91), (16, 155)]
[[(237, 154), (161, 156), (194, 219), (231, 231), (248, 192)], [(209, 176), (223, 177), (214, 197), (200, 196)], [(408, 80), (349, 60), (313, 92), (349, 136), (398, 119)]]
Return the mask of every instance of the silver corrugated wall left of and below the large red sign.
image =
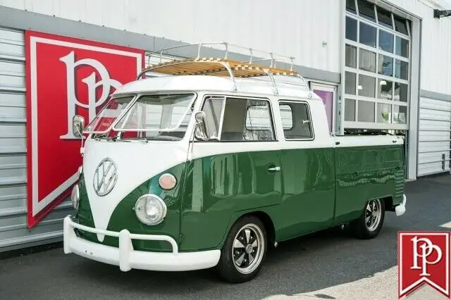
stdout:
[(61, 240), (60, 204), (32, 230), (27, 228), (25, 35), (0, 27), (0, 252)]

